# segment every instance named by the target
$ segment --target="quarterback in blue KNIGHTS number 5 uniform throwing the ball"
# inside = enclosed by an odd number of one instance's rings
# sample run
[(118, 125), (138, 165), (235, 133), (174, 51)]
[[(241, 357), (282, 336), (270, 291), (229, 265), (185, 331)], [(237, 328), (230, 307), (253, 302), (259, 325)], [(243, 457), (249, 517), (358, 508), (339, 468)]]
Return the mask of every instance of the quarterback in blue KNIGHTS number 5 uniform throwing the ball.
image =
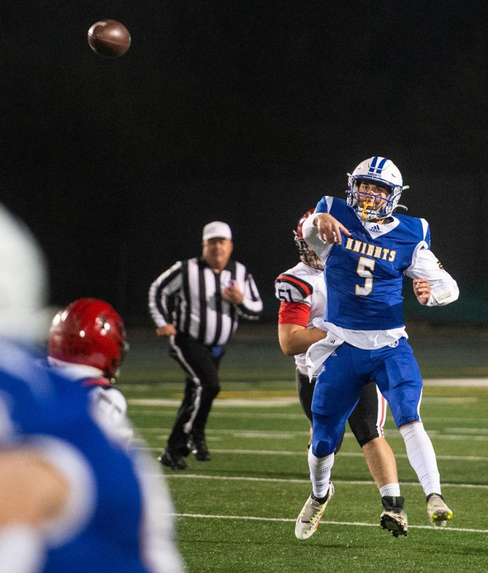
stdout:
[[(308, 539), (318, 527), (333, 491), (336, 444), (370, 380), (387, 399), (404, 438), (431, 524), (443, 527), (453, 517), (420, 420), (422, 375), (403, 323), (403, 276), (414, 280), (415, 296), (427, 306), (449, 304), (459, 291), (430, 250), (427, 221), (395, 214), (404, 189), (395, 164), (374, 156), (349, 175), (347, 201), (323, 197), (303, 225), (304, 239), (324, 262), (327, 306), (314, 325), (328, 334), (307, 352), (308, 374), (320, 374), (312, 401), (312, 494), (296, 520), (298, 539)], [(390, 484), (382, 504), (382, 527), (395, 537), (406, 535), (399, 484)]]

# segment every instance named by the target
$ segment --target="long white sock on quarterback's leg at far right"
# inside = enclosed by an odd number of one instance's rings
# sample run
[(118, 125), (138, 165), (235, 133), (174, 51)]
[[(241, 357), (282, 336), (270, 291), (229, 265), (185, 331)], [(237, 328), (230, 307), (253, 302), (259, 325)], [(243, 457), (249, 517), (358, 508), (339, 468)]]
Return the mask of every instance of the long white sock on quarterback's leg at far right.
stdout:
[(400, 428), (407, 449), (408, 461), (414, 468), (426, 496), (441, 492), (441, 478), (435, 452), (423, 424), (412, 423)]

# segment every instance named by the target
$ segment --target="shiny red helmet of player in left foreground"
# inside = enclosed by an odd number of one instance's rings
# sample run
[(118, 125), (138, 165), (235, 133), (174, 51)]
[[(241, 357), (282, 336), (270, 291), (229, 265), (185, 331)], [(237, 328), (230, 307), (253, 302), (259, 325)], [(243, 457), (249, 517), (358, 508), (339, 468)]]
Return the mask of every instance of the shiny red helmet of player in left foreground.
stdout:
[(79, 299), (54, 317), (47, 354), (93, 366), (114, 379), (127, 348), (124, 322), (114, 308), (103, 300)]

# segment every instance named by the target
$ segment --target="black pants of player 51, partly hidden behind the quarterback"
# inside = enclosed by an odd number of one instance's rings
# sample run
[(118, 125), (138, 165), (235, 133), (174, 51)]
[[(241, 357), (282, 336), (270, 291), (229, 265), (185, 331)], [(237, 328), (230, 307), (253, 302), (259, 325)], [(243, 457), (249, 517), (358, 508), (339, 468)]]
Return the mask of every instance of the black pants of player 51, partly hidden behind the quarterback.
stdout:
[[(301, 407), (303, 408), (307, 418), (310, 420), (310, 423), (312, 423), (312, 398), (314, 396), (315, 378), (312, 379), (312, 382), (309, 382), (308, 376), (301, 374), (297, 368), (295, 372), (295, 381)], [(380, 407), (378, 393), (376, 392), (376, 384), (374, 382), (370, 382), (364, 386), (359, 402), (355, 409), (352, 410), (350, 417), (347, 419), (351, 427), (351, 431), (358, 440), (358, 444), (361, 448), (372, 439), (382, 437), (382, 432), (380, 432), (378, 426), (380, 419), (383, 419), (384, 423), (384, 415), (382, 411), (380, 411)], [(336, 453), (339, 451), (341, 444), (342, 438), (340, 438), (339, 444), (335, 450)]]

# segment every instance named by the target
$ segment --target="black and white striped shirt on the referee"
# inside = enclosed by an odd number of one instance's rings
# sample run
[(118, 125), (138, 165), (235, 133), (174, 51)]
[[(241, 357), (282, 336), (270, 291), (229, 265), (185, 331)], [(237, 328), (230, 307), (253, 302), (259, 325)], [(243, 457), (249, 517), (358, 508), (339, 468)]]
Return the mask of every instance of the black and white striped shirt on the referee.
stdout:
[[(240, 305), (228, 303), (222, 291), (236, 281), (243, 293)], [(173, 323), (208, 346), (222, 346), (237, 328), (240, 316), (257, 320), (263, 303), (252, 275), (243, 264), (229, 260), (219, 274), (203, 258), (176, 262), (149, 289), (149, 312), (157, 327)]]

